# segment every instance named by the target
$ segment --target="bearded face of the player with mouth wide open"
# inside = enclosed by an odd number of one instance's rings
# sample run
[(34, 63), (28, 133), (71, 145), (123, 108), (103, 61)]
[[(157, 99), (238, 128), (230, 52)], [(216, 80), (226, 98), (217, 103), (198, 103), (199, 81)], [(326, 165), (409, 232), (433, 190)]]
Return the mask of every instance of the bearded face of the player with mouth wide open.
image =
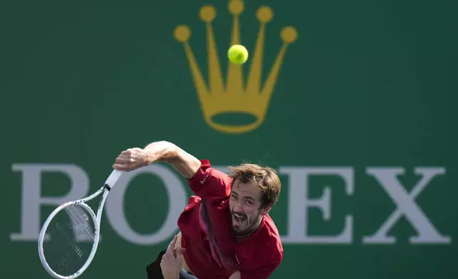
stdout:
[(257, 222), (267, 214), (261, 208), (261, 189), (256, 182), (242, 183), (235, 179), (230, 193), (229, 208), (233, 231), (239, 236), (257, 228)]

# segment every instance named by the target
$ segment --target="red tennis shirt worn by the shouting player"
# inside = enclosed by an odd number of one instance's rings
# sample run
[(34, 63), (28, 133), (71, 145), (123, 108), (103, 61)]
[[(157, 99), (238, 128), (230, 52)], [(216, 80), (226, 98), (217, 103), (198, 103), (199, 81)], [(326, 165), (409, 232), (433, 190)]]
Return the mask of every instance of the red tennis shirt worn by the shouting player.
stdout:
[(266, 279), (283, 258), (274, 221), (267, 214), (260, 228), (246, 238), (235, 238), (229, 210), (227, 174), (201, 160), (198, 172), (188, 179), (197, 196), (191, 196), (178, 220), (184, 260), (199, 279), (228, 279), (235, 270), (242, 279)]

